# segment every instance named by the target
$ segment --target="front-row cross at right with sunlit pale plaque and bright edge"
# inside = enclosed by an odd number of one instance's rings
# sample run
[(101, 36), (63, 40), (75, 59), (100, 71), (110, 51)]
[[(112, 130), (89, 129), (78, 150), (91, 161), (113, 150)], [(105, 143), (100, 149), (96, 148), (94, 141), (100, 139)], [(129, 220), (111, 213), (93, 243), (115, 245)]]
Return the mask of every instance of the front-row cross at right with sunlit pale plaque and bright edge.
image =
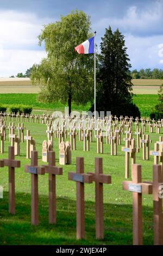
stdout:
[(123, 181), (122, 187), (133, 192), (133, 245), (142, 245), (142, 194), (152, 194), (152, 184), (141, 181), (141, 166), (133, 164), (133, 181)]

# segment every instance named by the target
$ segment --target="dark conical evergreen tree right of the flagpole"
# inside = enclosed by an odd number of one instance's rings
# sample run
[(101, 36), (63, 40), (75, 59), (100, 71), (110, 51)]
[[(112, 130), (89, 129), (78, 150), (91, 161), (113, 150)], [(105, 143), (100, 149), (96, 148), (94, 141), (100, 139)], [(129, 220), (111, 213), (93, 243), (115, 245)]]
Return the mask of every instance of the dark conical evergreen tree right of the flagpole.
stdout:
[[(124, 36), (118, 29), (106, 29), (101, 42), (97, 70), (97, 111), (111, 111), (116, 115), (140, 116), (132, 102), (129, 58)], [(93, 107), (91, 111), (93, 111)]]

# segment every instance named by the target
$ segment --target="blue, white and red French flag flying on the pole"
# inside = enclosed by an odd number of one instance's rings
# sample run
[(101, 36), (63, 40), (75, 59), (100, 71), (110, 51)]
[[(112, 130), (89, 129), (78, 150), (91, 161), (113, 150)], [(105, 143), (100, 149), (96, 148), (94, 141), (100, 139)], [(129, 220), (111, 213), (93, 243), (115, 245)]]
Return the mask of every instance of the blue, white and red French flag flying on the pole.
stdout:
[(79, 54), (94, 53), (94, 42), (95, 42), (95, 35), (87, 39), (85, 42), (82, 42), (82, 44), (75, 47), (74, 50), (77, 51)]

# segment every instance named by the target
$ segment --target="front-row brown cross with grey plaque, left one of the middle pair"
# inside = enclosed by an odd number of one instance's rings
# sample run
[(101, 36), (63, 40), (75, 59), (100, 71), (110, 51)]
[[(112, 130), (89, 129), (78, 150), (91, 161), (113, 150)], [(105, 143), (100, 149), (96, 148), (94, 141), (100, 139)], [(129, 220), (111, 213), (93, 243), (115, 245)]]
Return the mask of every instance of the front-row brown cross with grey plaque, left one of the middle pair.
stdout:
[(68, 173), (68, 180), (77, 182), (77, 239), (84, 239), (84, 183), (92, 183), (92, 175), (84, 174), (84, 158), (77, 157), (76, 173)]

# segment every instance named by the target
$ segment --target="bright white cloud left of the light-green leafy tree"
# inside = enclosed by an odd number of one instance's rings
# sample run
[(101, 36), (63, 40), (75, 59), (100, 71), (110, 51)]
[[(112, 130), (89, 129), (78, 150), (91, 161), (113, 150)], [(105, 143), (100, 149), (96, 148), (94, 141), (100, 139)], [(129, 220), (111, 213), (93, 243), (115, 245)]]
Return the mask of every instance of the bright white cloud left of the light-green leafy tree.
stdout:
[(48, 19), (34, 14), (0, 10), (0, 76), (7, 77), (25, 72), (46, 56), (38, 46), (37, 35)]

